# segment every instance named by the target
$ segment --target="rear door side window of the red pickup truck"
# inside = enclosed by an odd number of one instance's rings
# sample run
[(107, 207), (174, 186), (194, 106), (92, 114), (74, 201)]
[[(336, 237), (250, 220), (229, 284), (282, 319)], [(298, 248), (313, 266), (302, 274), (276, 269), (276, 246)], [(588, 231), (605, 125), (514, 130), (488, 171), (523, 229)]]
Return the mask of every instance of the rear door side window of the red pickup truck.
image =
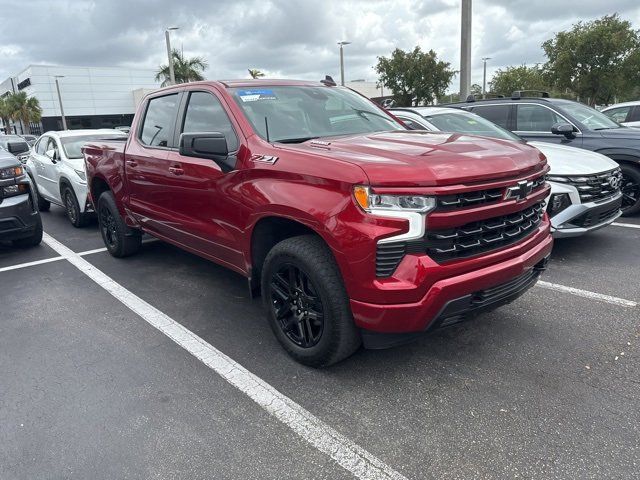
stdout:
[(173, 126), (178, 111), (178, 95), (166, 95), (149, 100), (140, 140), (154, 147), (173, 146)]

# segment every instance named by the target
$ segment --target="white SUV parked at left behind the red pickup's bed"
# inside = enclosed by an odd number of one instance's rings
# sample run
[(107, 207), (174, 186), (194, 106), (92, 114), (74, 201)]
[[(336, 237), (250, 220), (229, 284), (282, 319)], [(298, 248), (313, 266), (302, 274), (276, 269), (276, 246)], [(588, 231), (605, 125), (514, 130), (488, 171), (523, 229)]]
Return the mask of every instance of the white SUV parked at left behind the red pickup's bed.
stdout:
[(93, 207), (87, 199), (87, 177), (81, 149), (85, 142), (103, 138), (126, 140), (127, 136), (112, 129), (65, 130), (47, 132), (38, 139), (26, 166), (36, 185), (41, 211), (49, 210), (54, 203), (66, 209), (73, 226), (87, 224)]

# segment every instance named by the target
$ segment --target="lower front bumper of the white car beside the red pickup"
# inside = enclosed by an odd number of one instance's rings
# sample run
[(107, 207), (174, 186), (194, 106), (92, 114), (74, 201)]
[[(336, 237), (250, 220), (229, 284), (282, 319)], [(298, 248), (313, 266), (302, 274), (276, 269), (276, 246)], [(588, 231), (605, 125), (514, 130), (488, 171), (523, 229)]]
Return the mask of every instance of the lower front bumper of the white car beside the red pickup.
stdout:
[(622, 212), (622, 193), (599, 202), (573, 204), (551, 217), (554, 238), (577, 237), (613, 223)]

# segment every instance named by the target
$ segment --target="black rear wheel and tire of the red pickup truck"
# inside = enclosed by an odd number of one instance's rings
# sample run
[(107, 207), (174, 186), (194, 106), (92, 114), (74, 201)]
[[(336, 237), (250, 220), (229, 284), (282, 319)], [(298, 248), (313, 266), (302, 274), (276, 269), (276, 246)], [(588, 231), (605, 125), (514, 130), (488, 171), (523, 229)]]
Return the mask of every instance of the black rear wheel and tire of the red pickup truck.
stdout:
[(114, 257), (127, 257), (140, 250), (141, 233), (127, 227), (109, 191), (103, 192), (98, 199), (98, 224), (104, 245)]

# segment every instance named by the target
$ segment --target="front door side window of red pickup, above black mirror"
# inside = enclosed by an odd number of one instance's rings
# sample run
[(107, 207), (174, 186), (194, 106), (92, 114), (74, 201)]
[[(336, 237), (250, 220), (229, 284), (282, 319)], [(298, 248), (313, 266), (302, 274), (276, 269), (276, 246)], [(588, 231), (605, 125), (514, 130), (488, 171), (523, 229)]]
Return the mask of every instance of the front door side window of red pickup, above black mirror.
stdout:
[(206, 92), (192, 92), (184, 116), (182, 132), (220, 132), (227, 139), (230, 152), (238, 149), (238, 137), (217, 97)]

